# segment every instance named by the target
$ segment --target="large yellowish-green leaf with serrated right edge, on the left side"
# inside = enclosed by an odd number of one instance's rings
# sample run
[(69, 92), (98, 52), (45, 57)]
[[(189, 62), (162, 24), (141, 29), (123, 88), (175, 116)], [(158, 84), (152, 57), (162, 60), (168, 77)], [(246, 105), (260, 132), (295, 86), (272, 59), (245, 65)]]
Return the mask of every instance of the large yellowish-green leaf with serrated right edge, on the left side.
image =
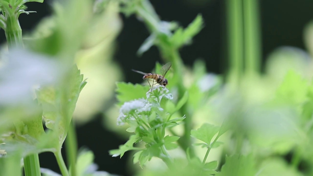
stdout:
[(83, 75), (76, 65), (64, 75), (64, 84), (58, 88), (42, 87), (36, 91), (38, 102), (42, 104), (46, 127), (59, 134), (59, 143), (63, 144), (67, 127), (73, 116), (76, 102), (85, 85)]

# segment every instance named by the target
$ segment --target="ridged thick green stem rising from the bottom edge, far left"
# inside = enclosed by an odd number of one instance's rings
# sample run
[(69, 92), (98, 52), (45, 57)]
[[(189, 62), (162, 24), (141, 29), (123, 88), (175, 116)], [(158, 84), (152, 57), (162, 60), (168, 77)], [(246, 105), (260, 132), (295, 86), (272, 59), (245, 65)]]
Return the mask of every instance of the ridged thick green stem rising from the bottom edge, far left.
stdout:
[(25, 176), (40, 176), (40, 164), (38, 153), (30, 154), (24, 159), (24, 172)]

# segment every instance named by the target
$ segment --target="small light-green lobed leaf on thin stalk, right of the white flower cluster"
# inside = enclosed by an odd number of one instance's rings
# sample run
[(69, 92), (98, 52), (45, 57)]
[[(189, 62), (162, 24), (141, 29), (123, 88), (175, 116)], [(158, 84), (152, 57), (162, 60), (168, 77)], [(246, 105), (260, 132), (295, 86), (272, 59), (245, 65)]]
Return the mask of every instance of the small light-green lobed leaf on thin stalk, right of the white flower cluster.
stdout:
[(191, 136), (207, 144), (211, 143), (213, 136), (219, 131), (220, 127), (204, 123), (197, 130), (191, 130)]

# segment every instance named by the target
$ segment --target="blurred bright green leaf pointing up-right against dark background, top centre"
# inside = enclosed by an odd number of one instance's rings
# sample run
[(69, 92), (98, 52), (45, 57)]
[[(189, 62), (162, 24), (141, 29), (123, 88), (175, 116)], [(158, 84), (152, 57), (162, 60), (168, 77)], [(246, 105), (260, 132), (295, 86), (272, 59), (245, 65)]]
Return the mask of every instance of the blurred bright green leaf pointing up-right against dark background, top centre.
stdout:
[(171, 37), (171, 41), (176, 48), (180, 48), (184, 44), (190, 43), (192, 37), (198, 34), (203, 28), (202, 15), (198, 16), (184, 30), (178, 28)]

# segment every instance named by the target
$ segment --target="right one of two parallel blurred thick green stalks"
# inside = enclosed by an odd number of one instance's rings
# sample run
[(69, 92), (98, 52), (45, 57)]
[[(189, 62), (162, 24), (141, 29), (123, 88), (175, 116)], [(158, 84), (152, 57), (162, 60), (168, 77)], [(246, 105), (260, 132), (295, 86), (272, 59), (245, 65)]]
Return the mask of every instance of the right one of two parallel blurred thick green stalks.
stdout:
[(257, 75), (261, 64), (261, 41), (258, 0), (243, 0), (245, 71), (248, 75)]

